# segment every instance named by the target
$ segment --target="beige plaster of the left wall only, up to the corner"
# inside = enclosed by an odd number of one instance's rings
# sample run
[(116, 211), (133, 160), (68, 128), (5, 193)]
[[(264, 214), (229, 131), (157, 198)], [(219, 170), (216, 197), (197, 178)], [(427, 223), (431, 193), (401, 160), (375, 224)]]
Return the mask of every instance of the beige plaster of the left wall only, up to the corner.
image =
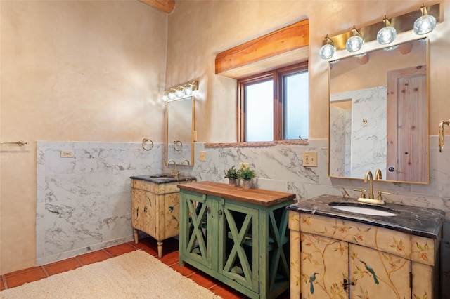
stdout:
[(137, 0), (0, 1), (0, 274), (34, 265), (37, 140), (163, 142), (167, 14)]

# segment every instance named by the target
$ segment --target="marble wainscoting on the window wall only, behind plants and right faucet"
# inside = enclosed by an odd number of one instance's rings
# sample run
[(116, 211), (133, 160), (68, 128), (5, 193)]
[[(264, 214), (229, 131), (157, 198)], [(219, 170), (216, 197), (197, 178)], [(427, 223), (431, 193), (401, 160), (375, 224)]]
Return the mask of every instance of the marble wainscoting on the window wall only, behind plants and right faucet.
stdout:
[[(447, 140), (450, 136), (446, 136)], [(207, 161), (198, 161), (198, 152), (206, 151)], [(318, 167), (303, 167), (302, 152), (317, 152)], [(277, 145), (273, 147), (210, 147), (195, 143), (195, 164), (190, 175), (198, 182), (226, 182), (224, 170), (247, 162), (257, 172), (255, 187), (292, 192), (297, 199), (307, 200), (321, 194), (359, 197), (354, 189), (368, 189), (361, 180), (328, 177), (328, 140), (309, 140), (309, 145)], [(441, 277), (450, 278), (450, 147), (439, 152), (437, 135), (430, 136), (430, 185), (397, 182), (374, 182), (374, 190), (390, 192), (385, 201), (446, 213), (441, 243)], [(450, 285), (442, 284), (441, 298), (450, 298)]]

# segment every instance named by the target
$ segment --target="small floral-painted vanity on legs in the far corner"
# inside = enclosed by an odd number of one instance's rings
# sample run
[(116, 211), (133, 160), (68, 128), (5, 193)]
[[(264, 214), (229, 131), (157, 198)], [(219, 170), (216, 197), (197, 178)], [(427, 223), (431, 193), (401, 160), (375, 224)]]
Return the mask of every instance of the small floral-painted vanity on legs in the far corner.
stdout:
[(137, 244), (139, 230), (158, 241), (162, 258), (162, 241), (179, 234), (178, 184), (195, 182), (184, 175), (139, 175), (131, 177), (131, 226)]

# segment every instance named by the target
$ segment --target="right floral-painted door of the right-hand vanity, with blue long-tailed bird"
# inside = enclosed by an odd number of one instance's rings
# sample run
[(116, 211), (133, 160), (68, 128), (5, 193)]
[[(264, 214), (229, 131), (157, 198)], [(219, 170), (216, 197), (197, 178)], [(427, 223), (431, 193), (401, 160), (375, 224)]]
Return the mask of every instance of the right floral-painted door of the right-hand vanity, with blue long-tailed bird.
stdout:
[(350, 298), (411, 298), (411, 261), (349, 244)]

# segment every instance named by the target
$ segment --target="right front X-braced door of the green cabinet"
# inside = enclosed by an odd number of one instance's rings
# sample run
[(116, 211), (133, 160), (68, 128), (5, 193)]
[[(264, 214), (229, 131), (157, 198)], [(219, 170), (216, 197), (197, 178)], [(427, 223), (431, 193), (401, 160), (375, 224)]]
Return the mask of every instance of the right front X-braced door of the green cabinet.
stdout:
[(259, 291), (259, 211), (219, 202), (219, 273)]

